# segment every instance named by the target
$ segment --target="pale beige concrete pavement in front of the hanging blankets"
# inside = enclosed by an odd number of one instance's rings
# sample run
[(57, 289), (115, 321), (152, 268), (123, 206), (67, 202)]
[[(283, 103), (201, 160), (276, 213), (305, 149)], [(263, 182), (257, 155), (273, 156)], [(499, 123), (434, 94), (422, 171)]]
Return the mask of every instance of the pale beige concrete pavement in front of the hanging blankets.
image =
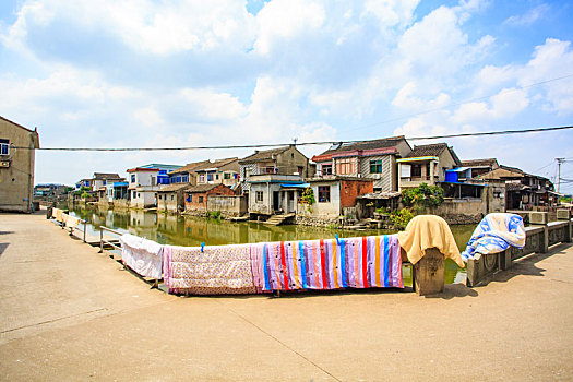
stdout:
[(488, 285), (175, 297), (0, 214), (0, 380), (573, 380), (573, 247)]

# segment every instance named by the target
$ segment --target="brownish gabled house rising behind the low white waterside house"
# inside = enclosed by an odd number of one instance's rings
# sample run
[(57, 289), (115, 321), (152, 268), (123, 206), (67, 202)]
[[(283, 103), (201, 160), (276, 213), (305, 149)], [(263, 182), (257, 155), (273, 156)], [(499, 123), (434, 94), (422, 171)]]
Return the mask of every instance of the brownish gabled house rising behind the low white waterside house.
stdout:
[(249, 192), (249, 178), (253, 175), (296, 175), (302, 178), (314, 176), (315, 168), (297, 147), (291, 144), (278, 148), (255, 151), (239, 160), (242, 190)]

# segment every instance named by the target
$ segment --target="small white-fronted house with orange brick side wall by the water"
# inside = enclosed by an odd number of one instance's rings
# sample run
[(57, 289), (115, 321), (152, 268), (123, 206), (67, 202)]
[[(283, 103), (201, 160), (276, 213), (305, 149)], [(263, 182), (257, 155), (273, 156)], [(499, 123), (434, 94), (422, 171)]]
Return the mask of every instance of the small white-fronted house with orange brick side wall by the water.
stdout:
[(337, 224), (341, 218), (360, 219), (356, 204), (360, 195), (373, 192), (368, 178), (333, 176), (307, 179), (314, 203), (298, 203), (297, 223), (307, 225)]

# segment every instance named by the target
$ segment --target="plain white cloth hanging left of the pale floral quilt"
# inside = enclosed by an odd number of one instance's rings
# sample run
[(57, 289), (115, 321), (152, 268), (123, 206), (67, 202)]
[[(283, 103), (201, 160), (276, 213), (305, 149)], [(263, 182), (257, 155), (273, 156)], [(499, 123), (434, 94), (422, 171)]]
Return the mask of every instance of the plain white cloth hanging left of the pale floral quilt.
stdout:
[(163, 273), (163, 246), (130, 234), (119, 238), (121, 259), (139, 275), (160, 279)]

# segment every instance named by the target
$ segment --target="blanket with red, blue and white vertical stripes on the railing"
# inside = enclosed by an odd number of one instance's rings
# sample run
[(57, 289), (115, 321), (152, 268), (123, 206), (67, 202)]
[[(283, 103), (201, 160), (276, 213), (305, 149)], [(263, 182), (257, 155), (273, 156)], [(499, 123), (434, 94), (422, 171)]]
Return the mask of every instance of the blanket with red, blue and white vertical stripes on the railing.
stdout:
[(397, 235), (253, 244), (258, 290), (403, 288)]

